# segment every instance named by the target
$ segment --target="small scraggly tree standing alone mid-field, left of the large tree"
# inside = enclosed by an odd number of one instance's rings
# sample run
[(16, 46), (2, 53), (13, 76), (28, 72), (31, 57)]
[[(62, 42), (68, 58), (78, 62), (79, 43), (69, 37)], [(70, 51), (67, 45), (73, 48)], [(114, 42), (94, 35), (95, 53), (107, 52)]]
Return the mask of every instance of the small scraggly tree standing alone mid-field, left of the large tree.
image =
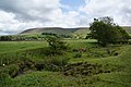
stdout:
[(49, 52), (53, 54), (63, 54), (68, 50), (67, 42), (62, 41), (57, 36), (47, 36), (47, 42), (49, 44)]

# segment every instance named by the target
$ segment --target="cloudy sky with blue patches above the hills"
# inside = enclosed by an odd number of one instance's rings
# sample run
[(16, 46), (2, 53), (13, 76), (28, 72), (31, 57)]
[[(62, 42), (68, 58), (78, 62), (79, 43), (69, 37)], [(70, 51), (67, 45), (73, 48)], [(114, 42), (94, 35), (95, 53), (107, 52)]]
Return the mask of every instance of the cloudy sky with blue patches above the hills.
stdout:
[(0, 0), (0, 35), (33, 27), (85, 27), (102, 16), (131, 25), (131, 0)]

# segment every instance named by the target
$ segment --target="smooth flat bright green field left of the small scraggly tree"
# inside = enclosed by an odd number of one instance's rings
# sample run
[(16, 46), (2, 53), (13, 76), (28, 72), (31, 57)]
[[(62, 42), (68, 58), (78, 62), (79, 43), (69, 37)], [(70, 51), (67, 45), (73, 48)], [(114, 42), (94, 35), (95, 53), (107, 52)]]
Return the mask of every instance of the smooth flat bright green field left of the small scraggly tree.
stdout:
[(0, 53), (47, 47), (45, 41), (0, 41)]

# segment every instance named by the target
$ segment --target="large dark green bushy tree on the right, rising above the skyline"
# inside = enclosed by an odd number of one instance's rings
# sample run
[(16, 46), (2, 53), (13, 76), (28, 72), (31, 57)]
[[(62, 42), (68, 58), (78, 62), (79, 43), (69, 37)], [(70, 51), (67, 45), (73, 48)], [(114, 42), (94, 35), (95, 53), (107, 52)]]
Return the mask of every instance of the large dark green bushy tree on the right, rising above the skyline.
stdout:
[(90, 27), (90, 38), (97, 39), (103, 46), (108, 44), (126, 42), (129, 39), (129, 35), (126, 30), (116, 25), (110, 17), (94, 18), (94, 22)]

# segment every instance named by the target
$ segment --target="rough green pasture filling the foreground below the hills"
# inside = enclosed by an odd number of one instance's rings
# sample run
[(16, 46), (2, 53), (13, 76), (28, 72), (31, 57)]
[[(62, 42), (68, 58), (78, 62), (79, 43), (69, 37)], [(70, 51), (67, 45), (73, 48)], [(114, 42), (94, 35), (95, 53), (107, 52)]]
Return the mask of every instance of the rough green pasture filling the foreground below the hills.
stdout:
[[(56, 57), (45, 55), (48, 47), (46, 41), (1, 41), (0, 87), (131, 86), (130, 45), (110, 45), (104, 48), (98, 46), (96, 40), (64, 41), (69, 44), (70, 50), (63, 55)], [(59, 59), (57, 60), (59, 63), (63, 58), (68, 59), (67, 65), (63, 66), (67, 69), (64, 71), (34, 69), (34, 64), (39, 62), (43, 64)], [(28, 64), (31, 66), (27, 67)], [(26, 65), (24, 72), (11, 77), (19, 70), (19, 65)], [(88, 72), (91, 73), (86, 74)]]

